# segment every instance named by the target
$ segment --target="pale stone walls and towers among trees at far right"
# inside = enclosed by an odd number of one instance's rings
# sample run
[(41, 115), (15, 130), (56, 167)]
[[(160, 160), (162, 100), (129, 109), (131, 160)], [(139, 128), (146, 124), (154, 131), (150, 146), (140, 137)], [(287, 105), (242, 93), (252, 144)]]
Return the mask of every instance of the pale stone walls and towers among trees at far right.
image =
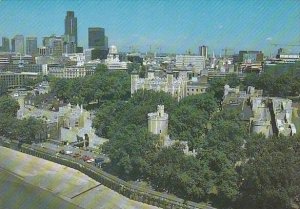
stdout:
[(263, 97), (262, 90), (249, 86), (246, 91), (239, 87), (224, 86), (223, 108), (241, 107), (241, 119), (249, 121), (252, 133), (292, 136), (296, 127), (292, 122), (292, 101), (278, 97)]

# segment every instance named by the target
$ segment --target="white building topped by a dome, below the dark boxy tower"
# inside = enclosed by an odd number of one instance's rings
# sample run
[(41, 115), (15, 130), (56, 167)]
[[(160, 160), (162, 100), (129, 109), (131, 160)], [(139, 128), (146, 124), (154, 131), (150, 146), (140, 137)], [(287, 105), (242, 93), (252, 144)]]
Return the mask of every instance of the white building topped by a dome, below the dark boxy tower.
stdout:
[(109, 70), (127, 70), (127, 63), (120, 62), (118, 49), (112, 45), (109, 47), (109, 52), (105, 64)]

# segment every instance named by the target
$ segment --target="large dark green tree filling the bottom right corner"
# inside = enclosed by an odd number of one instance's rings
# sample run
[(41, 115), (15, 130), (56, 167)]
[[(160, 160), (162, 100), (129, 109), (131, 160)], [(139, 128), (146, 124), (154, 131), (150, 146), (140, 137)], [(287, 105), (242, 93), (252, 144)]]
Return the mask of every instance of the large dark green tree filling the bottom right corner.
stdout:
[(299, 207), (299, 144), (299, 136), (251, 137), (246, 144), (248, 160), (242, 165), (236, 208)]

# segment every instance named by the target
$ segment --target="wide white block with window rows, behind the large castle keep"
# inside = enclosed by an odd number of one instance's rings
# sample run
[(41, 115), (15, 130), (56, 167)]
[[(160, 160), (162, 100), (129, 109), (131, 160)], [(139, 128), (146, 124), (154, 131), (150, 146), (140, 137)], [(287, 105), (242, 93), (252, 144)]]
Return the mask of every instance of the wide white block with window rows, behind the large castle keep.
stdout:
[(176, 68), (183, 69), (185, 67), (194, 68), (194, 73), (200, 75), (205, 68), (205, 57), (197, 55), (176, 55)]

